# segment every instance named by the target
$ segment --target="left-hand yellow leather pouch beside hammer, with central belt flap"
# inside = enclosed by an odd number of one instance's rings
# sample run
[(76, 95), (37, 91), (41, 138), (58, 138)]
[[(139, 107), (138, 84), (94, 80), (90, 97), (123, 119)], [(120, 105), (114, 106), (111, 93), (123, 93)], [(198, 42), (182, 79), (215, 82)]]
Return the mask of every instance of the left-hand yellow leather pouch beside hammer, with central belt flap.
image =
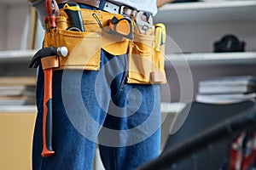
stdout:
[(129, 40), (102, 32), (93, 14), (96, 14), (102, 26), (107, 26), (108, 20), (114, 16), (99, 10), (81, 8), (85, 31), (67, 31), (70, 21), (64, 10), (60, 9), (60, 16), (56, 17), (57, 27), (46, 31), (44, 36), (44, 47), (65, 46), (68, 49), (67, 57), (59, 57), (60, 66), (55, 70), (65, 68), (98, 71), (101, 48), (113, 55), (127, 53)]

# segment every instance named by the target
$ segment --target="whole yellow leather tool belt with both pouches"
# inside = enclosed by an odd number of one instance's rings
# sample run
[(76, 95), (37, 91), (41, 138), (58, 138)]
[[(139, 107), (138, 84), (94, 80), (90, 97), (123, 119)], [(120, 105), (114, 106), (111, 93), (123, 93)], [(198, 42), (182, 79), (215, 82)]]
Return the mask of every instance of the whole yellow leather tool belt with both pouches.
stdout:
[[(96, 18), (93, 16), (96, 14)], [(109, 54), (128, 54), (128, 83), (165, 83), (164, 70), (165, 44), (160, 50), (155, 50), (154, 26), (147, 35), (140, 34), (134, 29), (133, 38), (122, 37), (102, 31), (98, 21), (104, 29), (109, 29), (108, 21), (116, 14), (101, 10), (81, 8), (84, 21), (84, 32), (67, 31), (70, 26), (67, 14), (60, 9), (56, 17), (56, 28), (45, 31), (44, 48), (65, 46), (67, 57), (59, 57), (59, 67), (63, 69), (83, 69), (89, 71), (100, 70), (101, 49)], [(133, 23), (134, 24), (134, 23)]]

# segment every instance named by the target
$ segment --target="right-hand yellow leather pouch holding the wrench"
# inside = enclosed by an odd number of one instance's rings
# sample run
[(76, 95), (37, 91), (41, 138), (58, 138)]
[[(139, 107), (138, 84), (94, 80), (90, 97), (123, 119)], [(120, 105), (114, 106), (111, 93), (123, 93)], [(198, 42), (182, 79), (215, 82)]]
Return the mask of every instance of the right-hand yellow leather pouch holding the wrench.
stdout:
[(154, 30), (148, 35), (135, 31), (128, 54), (128, 83), (166, 83), (165, 44), (155, 50)]

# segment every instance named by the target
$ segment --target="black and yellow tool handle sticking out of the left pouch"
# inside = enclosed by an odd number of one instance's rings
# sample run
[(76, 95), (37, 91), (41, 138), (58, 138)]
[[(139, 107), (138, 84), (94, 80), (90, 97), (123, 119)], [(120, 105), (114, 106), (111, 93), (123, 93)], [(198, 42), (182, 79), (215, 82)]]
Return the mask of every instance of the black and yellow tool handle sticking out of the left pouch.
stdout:
[(80, 7), (78, 3), (65, 3), (64, 11), (66, 12), (69, 20), (70, 20), (70, 30), (79, 29), (79, 31), (84, 31), (84, 23), (80, 11)]

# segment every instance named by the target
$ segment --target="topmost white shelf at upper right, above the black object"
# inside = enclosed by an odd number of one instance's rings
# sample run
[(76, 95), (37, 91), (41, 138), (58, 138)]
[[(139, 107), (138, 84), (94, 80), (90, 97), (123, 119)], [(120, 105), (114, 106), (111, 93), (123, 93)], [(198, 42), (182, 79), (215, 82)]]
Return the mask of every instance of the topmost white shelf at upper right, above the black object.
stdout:
[(195, 23), (256, 20), (256, 1), (168, 3), (154, 16), (156, 22)]

